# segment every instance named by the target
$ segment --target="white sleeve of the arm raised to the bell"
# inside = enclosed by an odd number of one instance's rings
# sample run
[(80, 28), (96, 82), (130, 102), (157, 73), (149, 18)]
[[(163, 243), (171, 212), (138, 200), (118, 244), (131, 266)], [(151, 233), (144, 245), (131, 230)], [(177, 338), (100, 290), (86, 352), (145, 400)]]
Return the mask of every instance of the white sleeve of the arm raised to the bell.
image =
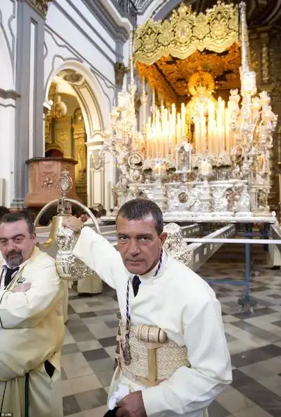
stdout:
[(124, 266), (119, 252), (106, 238), (90, 227), (83, 227), (73, 254), (97, 272), (97, 275), (111, 288), (116, 288), (114, 276), (120, 268), (124, 273)]

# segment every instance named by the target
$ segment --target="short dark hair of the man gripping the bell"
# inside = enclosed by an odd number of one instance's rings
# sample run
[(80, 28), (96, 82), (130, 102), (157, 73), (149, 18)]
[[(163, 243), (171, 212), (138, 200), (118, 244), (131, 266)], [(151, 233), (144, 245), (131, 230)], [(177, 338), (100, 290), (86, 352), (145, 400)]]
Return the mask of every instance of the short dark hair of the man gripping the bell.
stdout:
[(149, 199), (136, 198), (129, 200), (120, 207), (116, 221), (118, 217), (127, 220), (140, 220), (147, 218), (149, 215), (152, 215), (157, 234), (161, 234), (163, 231), (163, 213), (161, 208)]

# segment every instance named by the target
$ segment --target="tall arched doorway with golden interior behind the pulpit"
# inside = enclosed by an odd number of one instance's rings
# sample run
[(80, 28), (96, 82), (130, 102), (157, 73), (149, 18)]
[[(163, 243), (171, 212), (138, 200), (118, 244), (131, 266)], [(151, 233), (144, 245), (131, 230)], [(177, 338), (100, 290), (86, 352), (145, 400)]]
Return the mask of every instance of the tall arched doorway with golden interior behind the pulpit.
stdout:
[[(64, 63), (49, 76), (45, 90), (45, 156), (77, 161), (77, 194), (89, 207), (109, 206), (109, 183), (99, 161), (108, 104), (93, 74), (79, 63)], [(101, 111), (102, 108), (102, 111)], [(109, 170), (108, 167), (106, 167)]]

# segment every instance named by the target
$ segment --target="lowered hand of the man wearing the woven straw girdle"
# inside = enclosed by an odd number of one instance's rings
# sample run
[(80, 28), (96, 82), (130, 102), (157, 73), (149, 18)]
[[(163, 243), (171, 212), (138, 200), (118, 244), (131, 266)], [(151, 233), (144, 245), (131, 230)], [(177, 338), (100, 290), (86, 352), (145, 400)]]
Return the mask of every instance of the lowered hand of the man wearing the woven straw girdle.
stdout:
[(147, 417), (141, 391), (127, 395), (116, 405), (116, 417)]

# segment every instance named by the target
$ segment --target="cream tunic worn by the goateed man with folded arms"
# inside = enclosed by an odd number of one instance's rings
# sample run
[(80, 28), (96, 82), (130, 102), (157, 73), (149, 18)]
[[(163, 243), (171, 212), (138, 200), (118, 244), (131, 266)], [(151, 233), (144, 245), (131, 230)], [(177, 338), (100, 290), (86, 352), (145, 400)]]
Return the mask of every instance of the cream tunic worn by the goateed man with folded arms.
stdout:
[[(63, 292), (54, 259), (35, 247), (19, 275), (31, 284), (28, 291), (12, 291), (17, 277), (6, 291), (0, 290), (1, 413), (24, 417), (25, 374), (29, 372), (29, 417), (62, 417)], [(47, 360), (55, 368), (51, 378), (45, 370)]]

